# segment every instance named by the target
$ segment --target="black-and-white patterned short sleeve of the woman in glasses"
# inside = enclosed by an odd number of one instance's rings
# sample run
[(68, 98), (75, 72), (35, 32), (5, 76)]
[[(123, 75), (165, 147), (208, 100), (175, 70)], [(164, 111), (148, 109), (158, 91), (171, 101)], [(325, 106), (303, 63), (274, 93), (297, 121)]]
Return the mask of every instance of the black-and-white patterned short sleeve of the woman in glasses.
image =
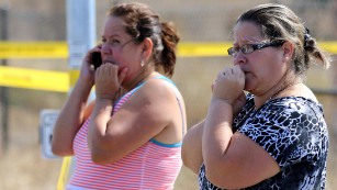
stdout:
[(321, 113), (292, 99), (273, 102), (250, 115), (238, 132), (266, 149), (282, 168), (313, 157)]

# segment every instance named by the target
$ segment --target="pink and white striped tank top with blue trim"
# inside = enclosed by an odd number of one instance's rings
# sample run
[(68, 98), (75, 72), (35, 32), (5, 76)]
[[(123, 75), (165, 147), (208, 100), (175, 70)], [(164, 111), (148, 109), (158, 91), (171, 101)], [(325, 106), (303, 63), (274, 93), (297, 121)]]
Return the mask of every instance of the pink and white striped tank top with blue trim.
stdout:
[[(156, 78), (169, 80), (164, 76)], [(142, 86), (143, 83), (122, 97), (114, 105), (113, 112), (116, 112)], [(97, 165), (91, 160), (87, 144), (89, 122), (90, 118), (74, 141), (75, 168), (67, 190), (173, 189), (182, 166), (181, 143), (164, 144), (150, 139), (114, 164)]]

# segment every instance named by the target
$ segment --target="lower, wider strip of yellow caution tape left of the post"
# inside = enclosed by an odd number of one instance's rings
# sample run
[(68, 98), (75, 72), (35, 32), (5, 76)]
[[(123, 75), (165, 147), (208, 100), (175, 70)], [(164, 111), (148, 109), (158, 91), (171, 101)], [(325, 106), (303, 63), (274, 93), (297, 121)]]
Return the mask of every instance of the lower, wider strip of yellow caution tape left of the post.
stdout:
[(68, 92), (69, 74), (0, 66), (0, 86)]

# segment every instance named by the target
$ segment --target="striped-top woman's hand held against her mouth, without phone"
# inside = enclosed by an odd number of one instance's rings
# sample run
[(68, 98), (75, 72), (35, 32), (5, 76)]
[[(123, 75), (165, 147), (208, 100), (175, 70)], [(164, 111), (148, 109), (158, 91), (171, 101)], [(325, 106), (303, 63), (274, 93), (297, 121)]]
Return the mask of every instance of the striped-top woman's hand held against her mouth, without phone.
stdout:
[(126, 72), (126, 67), (119, 72), (119, 66), (110, 63), (102, 64), (97, 68), (94, 75), (97, 98), (114, 100), (121, 90), (121, 83)]

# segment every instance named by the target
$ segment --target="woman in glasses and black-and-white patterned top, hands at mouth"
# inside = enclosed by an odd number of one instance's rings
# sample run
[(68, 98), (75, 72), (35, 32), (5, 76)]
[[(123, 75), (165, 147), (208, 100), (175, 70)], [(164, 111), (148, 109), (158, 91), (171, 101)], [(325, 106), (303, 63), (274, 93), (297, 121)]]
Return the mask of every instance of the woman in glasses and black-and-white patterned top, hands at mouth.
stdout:
[(234, 66), (218, 72), (207, 116), (184, 137), (184, 165), (203, 190), (325, 189), (327, 126), (303, 80), (328, 57), (282, 4), (248, 10), (233, 34)]

